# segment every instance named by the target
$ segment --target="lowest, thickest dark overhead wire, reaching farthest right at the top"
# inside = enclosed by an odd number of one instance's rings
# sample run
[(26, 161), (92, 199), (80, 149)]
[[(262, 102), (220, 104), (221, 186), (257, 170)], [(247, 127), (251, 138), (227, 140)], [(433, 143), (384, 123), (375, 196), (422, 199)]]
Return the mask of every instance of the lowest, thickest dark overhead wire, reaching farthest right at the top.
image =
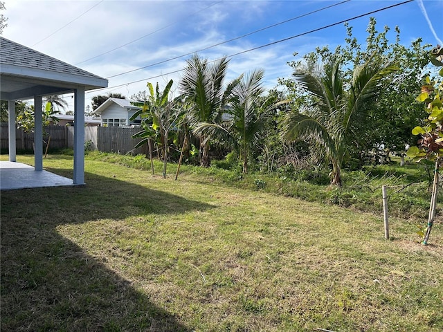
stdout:
[[(309, 30), (309, 31), (307, 31), (307, 32), (305, 32), (305, 33), (300, 33), (300, 34), (298, 34), (298, 35), (293, 35), (293, 36), (291, 36), (291, 37), (287, 37), (287, 38), (284, 38), (284, 39), (280, 39), (280, 40), (277, 40), (277, 41), (275, 41), (275, 42), (271, 42), (271, 43), (269, 43), (269, 44), (264, 44), (264, 45), (262, 45), (262, 46), (257, 46), (257, 47), (255, 47), (255, 48), (249, 48), (248, 50), (243, 50), (242, 52), (235, 53), (235, 54), (232, 54), (232, 55), (228, 55), (228, 56), (226, 56), (226, 58), (235, 57), (235, 56), (240, 55), (240, 54), (244, 54), (244, 53), (251, 52), (252, 50), (258, 50), (258, 49), (260, 49), (260, 48), (264, 48), (264, 47), (267, 47), (267, 46), (271, 46), (271, 45), (279, 44), (279, 43), (282, 43), (282, 42), (287, 42), (287, 41), (290, 40), (290, 39), (294, 39), (294, 38), (297, 38), (297, 37), (301, 37), (301, 36), (304, 36), (304, 35), (308, 35), (309, 33), (315, 33), (315, 32), (320, 31), (320, 30), (325, 30), (326, 28), (331, 28), (332, 26), (337, 26), (338, 24), (343, 24), (343, 23), (345, 23), (345, 22), (347, 22), (347, 21), (353, 21), (354, 19), (359, 19), (359, 18), (361, 18), (361, 17), (365, 17), (365, 16), (368, 16), (368, 15), (372, 15), (372, 14), (374, 14), (374, 13), (376, 13), (376, 12), (381, 12), (381, 11), (383, 11), (383, 10), (388, 10), (388, 9), (390, 9), (390, 8), (394, 8), (394, 7), (397, 7), (397, 6), (401, 6), (401, 5), (404, 5), (404, 4), (406, 4), (406, 3), (410, 3), (410, 2), (412, 2), (412, 1), (415, 1), (415, 0), (407, 0), (407, 1), (400, 2), (400, 3), (395, 3), (394, 5), (391, 5), (391, 6), (387, 6), (387, 7), (379, 8), (379, 9), (377, 9), (377, 10), (372, 10), (371, 12), (365, 12), (364, 14), (361, 14), (361, 15), (358, 15), (358, 16), (351, 17), (350, 19), (344, 19), (344, 20), (342, 20), (342, 21), (338, 21), (338, 22), (336, 22), (336, 23), (329, 24), (329, 25), (327, 25), (327, 26), (322, 26), (321, 28), (316, 28), (316, 29), (314, 29), (314, 30)], [(218, 61), (218, 60), (220, 60), (220, 59), (223, 59), (223, 58), (221, 57), (221, 58), (219, 58), (219, 59), (215, 59), (215, 60), (212, 60), (212, 61), (210, 61), (210, 62), (216, 62), (216, 61)], [(109, 87), (107, 87), (107, 88), (101, 88), (101, 89), (96, 89), (96, 90), (90, 90), (90, 91), (87, 91), (86, 93), (93, 93), (93, 92), (101, 91), (101, 90), (114, 89), (114, 88), (118, 88), (118, 87), (120, 87), (120, 86), (125, 86), (125, 85), (129, 85), (129, 84), (134, 84), (134, 83), (138, 83), (138, 82), (143, 82), (143, 81), (145, 81), (145, 80), (152, 80), (153, 78), (163, 77), (163, 76), (165, 76), (165, 75), (170, 75), (170, 74), (174, 74), (174, 73), (179, 73), (179, 72), (184, 71), (184, 70), (185, 70), (185, 68), (183, 68), (183, 69), (179, 69), (179, 70), (177, 70), (177, 71), (170, 71), (169, 73), (165, 73), (165, 74), (160, 74), (160, 75), (156, 75), (156, 76), (152, 76), (152, 77), (147, 77), (147, 78), (144, 78), (143, 80), (136, 80), (136, 81), (128, 82), (128, 83), (125, 83), (125, 84), (119, 84), (119, 85), (115, 85), (115, 86), (109, 86)]]

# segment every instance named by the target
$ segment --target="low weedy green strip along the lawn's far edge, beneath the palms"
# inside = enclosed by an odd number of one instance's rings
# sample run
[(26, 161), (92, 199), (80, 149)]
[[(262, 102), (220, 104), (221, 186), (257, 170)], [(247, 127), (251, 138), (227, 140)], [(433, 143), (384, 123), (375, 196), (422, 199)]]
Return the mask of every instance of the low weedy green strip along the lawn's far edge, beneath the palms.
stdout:
[[(92, 151), (88, 160), (116, 163), (135, 169), (150, 169), (150, 160), (143, 155), (120, 156)], [(156, 163), (159, 163), (156, 160)], [(168, 164), (168, 173), (174, 174), (177, 164)], [(213, 160), (207, 169), (183, 165), (181, 172), (208, 176), (213, 183), (254, 190), (259, 188), (281, 196), (290, 196), (306, 201), (339, 205), (376, 214), (383, 211), (381, 186), (388, 185), (390, 215), (410, 222), (422, 223), (428, 214), (433, 181), (432, 165), (416, 165), (412, 161), (404, 167), (395, 158), (390, 165), (365, 166), (362, 169), (343, 172), (345, 185), (329, 187), (328, 169), (295, 169), (282, 167), (276, 174), (261, 172), (242, 173), (242, 164), (237, 159)], [(257, 183), (260, 183), (257, 185)], [(437, 208), (437, 214), (440, 208)]]

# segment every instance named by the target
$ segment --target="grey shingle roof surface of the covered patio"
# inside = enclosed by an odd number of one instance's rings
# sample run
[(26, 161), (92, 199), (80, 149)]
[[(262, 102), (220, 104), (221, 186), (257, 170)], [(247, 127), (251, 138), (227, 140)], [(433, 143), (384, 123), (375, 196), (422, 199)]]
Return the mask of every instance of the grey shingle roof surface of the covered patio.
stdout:
[(36, 68), (44, 71), (102, 79), (102, 77), (98, 75), (84, 71), (71, 64), (66, 64), (66, 62), (62, 62), (59, 59), (37, 52), (37, 50), (12, 42), (4, 37), (0, 37), (0, 64), (10, 64), (25, 68)]

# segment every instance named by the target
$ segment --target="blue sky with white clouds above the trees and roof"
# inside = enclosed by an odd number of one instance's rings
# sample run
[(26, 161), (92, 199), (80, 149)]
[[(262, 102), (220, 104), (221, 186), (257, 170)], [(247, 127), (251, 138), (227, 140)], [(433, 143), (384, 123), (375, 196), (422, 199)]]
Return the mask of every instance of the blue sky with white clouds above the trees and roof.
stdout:
[[(179, 82), (181, 73), (173, 72), (183, 69), (190, 55), (165, 62), (173, 57), (208, 48), (199, 54), (213, 60), (300, 35), (230, 60), (228, 80), (263, 68), (265, 85), (272, 88), (278, 77), (291, 75), (287, 62), (317, 46), (335, 48), (345, 43), (343, 24), (314, 33), (309, 31), (401, 2), (6, 0), (3, 15), (8, 17), (8, 27), (3, 37), (101, 77), (110, 77), (111, 89), (87, 94), (86, 102), (90, 104), (93, 95), (108, 92), (129, 97), (145, 90), (148, 81), (163, 86), (170, 79)], [(321, 10), (327, 6), (331, 7)], [(314, 10), (320, 11), (309, 14)], [(399, 26), (402, 44), (409, 45), (417, 37), (422, 37), (424, 43), (443, 44), (443, 0), (416, 0), (350, 20), (353, 35), (361, 44), (368, 35), (365, 30), (370, 17), (377, 20), (377, 30), (390, 27), (391, 42), (395, 42), (394, 28)], [(282, 21), (287, 23), (279, 24)], [(278, 25), (210, 47), (273, 24)], [(299, 56), (294, 58), (294, 52)], [(163, 63), (150, 66), (157, 62)], [(144, 66), (149, 67), (137, 70)], [(127, 71), (132, 72), (118, 75)], [(65, 98), (70, 102), (70, 96)]]

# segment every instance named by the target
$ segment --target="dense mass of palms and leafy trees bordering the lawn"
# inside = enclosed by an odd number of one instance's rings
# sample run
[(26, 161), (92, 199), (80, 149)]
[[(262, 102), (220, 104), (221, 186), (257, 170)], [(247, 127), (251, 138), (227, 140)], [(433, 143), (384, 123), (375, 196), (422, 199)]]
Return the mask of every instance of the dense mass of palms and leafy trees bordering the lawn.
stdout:
[[(282, 77), (267, 93), (260, 68), (225, 82), (228, 59), (211, 63), (192, 56), (179, 82), (180, 95), (170, 100), (186, 109), (186, 121), (174, 122), (179, 134), (170, 138), (167, 149), (159, 138), (157, 149), (161, 147), (163, 159), (183, 157), (204, 167), (230, 154), (242, 160), (245, 174), (329, 169), (336, 185), (342, 184), (342, 167), (361, 169), (392, 155), (404, 158), (406, 146), (415, 144), (410, 130), (423, 113), (413, 95), (422, 79), (433, 75), (427, 73), (431, 48), (422, 39), (402, 45), (397, 27), (392, 43), (390, 28), (379, 32), (376, 26), (370, 19), (361, 44), (345, 24), (343, 45), (316, 48), (290, 62), (293, 75)], [(165, 91), (170, 89), (168, 84)], [(152, 109), (148, 95), (140, 91), (134, 98)], [(157, 109), (166, 114), (171, 107)], [(153, 125), (152, 116), (143, 118), (145, 128)], [(314, 181), (323, 182), (323, 176)]]

